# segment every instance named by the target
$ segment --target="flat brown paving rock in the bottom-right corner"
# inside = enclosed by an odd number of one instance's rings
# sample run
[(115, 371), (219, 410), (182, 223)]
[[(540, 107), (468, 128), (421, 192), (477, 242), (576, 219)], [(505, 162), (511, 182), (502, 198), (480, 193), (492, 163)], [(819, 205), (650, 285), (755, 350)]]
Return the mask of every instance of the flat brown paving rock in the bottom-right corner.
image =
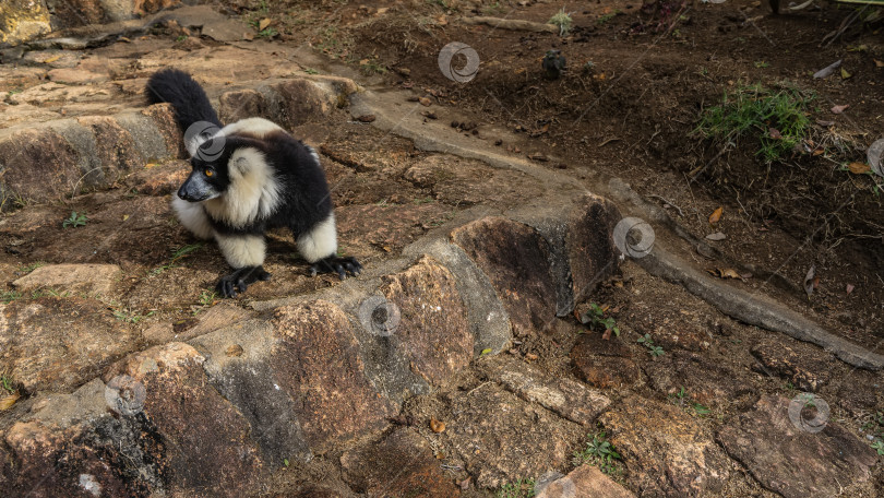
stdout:
[(786, 498), (847, 496), (845, 487), (867, 483), (875, 452), (832, 420), (819, 432), (800, 429), (789, 404), (777, 395), (762, 396), (751, 412), (719, 430), (718, 440), (762, 486)]

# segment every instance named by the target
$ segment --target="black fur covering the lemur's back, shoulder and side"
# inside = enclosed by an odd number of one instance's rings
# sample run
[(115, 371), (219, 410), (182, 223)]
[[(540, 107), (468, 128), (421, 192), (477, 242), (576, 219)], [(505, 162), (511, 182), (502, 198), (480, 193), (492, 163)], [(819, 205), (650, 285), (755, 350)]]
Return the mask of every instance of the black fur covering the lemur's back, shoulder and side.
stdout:
[[(261, 139), (248, 134), (226, 137), (224, 153), (212, 162), (218, 173), (218, 178), (213, 181), (217, 181), (218, 187), (224, 189), (229, 185), (228, 163), (240, 147), (254, 147), (264, 154), (275, 180), (279, 182), (279, 203), (268, 217), (255, 220), (248, 226), (235, 228), (210, 220), (213, 228), (222, 234), (256, 235), (263, 234), (266, 228), (288, 227), (298, 238), (328, 217), (333, 210), (332, 197), (322, 166), (307, 145), (284, 131), (267, 133)], [(205, 165), (200, 159), (192, 161), (194, 168)]]

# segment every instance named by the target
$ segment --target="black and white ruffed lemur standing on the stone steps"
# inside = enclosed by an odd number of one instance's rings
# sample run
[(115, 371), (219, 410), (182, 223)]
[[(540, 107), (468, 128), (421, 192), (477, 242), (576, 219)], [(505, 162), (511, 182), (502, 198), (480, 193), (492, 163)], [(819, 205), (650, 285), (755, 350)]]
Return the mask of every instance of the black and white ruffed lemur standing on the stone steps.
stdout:
[(145, 88), (152, 104), (169, 103), (184, 132), (192, 171), (172, 198), (181, 224), (214, 238), (234, 272), (218, 293), (236, 297), (264, 271), (268, 228), (288, 227), (310, 272), (358, 275), (362, 265), (337, 257), (337, 230), (316, 152), (272, 121), (247, 118), (222, 128), (205, 91), (190, 74), (165, 69)]

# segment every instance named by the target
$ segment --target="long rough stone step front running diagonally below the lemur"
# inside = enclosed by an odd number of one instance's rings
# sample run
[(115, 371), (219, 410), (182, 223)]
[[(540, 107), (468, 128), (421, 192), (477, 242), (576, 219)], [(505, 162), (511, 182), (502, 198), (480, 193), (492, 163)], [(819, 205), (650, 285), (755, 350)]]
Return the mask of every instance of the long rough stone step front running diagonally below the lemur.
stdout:
[[(616, 269), (607, 227), (617, 209), (592, 195), (570, 205), (540, 217), (561, 227), (559, 238), (482, 217), (415, 242), (373, 275), (255, 303), (258, 317), (131, 354), (71, 394), (44, 395), (0, 436), (10, 453), (2, 461), (14, 462), (0, 484), (13, 496), (244, 496), (284, 459), (351, 447), (384, 429), (409, 396), (506, 349), (512, 333), (548, 328), (570, 311), (574, 282)], [(609, 403), (539, 372), (489, 372), (578, 425)], [(586, 406), (565, 407), (562, 396)]]

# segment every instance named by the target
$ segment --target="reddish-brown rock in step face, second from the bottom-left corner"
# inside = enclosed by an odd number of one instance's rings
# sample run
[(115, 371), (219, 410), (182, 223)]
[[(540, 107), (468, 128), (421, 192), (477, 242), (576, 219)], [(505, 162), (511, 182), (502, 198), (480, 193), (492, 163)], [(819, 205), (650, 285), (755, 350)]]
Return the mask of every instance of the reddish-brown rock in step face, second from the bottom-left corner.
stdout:
[(247, 418), (210, 383), (204, 361), (192, 346), (169, 343), (132, 355), (105, 377), (109, 386), (117, 376), (143, 386), (143, 399), (133, 390), (130, 410), (162, 435), (164, 451), (155, 458), (172, 494), (243, 496), (264, 462)]

